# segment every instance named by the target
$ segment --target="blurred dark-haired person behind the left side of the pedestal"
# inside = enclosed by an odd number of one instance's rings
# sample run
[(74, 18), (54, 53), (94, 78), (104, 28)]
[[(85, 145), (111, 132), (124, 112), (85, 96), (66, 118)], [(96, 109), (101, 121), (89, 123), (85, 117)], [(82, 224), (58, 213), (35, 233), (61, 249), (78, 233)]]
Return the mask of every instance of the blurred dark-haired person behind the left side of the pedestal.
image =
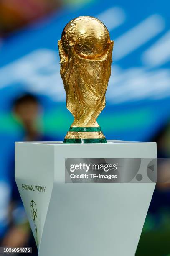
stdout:
[[(15, 119), (23, 126), (23, 141), (53, 141), (50, 136), (44, 135), (36, 127), (41, 111), (41, 105), (36, 96), (24, 94), (13, 102)], [(57, 138), (56, 138), (57, 140)], [(14, 150), (9, 158), (9, 178), (12, 187), (9, 206), (9, 228), (1, 242), (5, 247), (33, 247), (33, 254), (37, 255), (36, 244), (30, 230), (25, 210), (15, 183)]]

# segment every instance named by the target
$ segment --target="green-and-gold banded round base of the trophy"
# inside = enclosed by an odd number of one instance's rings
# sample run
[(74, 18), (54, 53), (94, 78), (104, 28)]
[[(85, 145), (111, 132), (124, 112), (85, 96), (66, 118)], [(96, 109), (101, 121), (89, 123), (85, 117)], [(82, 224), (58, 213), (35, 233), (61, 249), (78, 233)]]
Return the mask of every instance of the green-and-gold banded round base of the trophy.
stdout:
[(107, 143), (99, 127), (70, 127), (63, 143)]

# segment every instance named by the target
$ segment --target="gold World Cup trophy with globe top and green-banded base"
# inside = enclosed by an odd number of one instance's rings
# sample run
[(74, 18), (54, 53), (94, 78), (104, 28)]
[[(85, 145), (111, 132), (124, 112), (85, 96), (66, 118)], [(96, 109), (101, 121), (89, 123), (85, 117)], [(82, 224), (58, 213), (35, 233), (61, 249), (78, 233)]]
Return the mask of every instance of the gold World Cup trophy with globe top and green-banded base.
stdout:
[(63, 143), (107, 143), (96, 118), (105, 107), (113, 41), (97, 18), (71, 20), (58, 41), (66, 106), (74, 116)]

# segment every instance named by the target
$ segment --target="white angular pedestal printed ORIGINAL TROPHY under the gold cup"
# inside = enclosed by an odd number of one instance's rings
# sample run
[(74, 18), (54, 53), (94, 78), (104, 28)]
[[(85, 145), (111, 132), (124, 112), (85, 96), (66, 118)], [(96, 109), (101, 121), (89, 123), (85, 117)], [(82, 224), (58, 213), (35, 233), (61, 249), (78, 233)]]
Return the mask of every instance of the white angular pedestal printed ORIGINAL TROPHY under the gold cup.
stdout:
[(156, 143), (15, 145), (15, 179), (38, 256), (134, 256), (155, 183), (66, 183), (67, 158), (156, 158)]

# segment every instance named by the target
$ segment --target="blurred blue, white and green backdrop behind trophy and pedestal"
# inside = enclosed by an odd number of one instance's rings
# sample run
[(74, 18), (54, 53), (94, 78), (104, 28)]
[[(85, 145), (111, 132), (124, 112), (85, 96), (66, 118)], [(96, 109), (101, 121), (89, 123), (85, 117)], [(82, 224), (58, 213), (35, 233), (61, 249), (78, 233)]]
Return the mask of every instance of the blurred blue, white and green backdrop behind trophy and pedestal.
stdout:
[[(0, 243), (36, 245), (14, 180), (15, 141), (63, 141), (66, 109), (57, 41), (71, 19), (99, 18), (114, 40), (107, 139), (156, 141), (170, 157), (168, 0), (0, 0)], [(130, 233), (130, 230), (129, 230)], [(136, 256), (170, 255), (170, 187), (157, 186)]]

